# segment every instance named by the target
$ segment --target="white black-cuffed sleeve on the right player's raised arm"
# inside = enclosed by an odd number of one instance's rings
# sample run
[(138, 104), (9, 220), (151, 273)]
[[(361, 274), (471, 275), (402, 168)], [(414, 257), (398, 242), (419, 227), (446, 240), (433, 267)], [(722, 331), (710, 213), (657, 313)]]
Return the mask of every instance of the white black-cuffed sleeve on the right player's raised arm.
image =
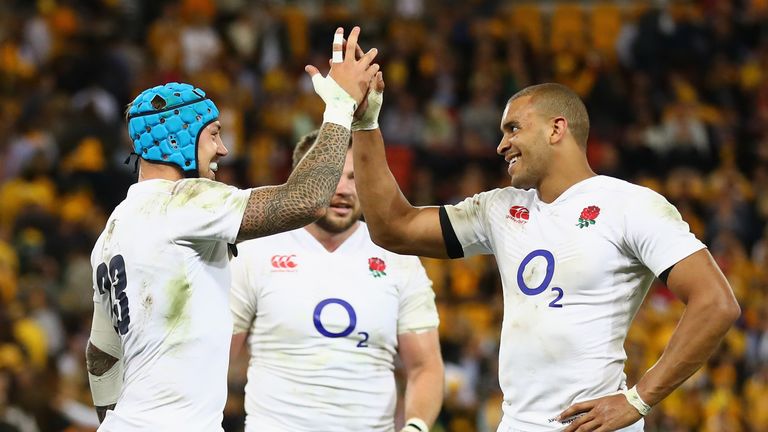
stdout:
[[(446, 205), (443, 208), (448, 216), (452, 231), (463, 249), (463, 256), (470, 257), (480, 254), (491, 254), (489, 239), (487, 202), (493, 196), (493, 191), (482, 192), (469, 197), (456, 205)], [(450, 229), (443, 227), (443, 232)], [(448, 244), (448, 239), (446, 239)]]

